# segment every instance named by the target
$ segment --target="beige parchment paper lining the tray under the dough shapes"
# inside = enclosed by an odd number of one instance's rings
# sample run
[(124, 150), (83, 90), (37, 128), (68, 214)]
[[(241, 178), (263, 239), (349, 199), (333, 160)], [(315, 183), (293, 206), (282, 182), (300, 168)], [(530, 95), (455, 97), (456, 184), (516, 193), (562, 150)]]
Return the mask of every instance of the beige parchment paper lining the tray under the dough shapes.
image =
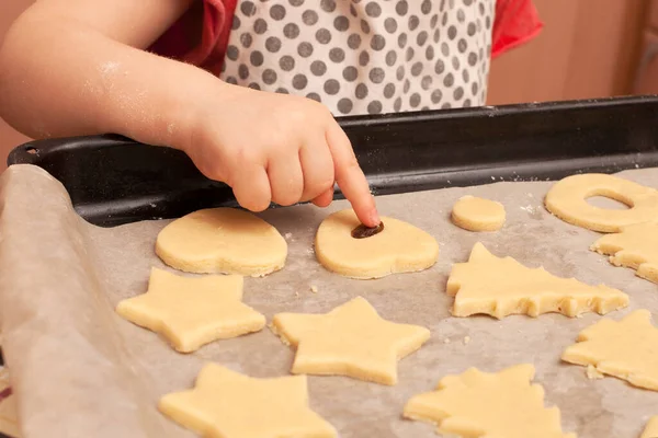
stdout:
[[(658, 186), (658, 170), (622, 176)], [(286, 237), (290, 251), (282, 272), (245, 283), (245, 302), (269, 321), (281, 311), (327, 312), (361, 295), (382, 316), (432, 331), (420, 350), (399, 362), (396, 387), (309, 377), (311, 407), (341, 437), (433, 437), (430, 425), (401, 419), (410, 396), (434, 389), (446, 373), (468, 367), (497, 371), (520, 362), (534, 364), (546, 405), (559, 406), (565, 431), (579, 437), (636, 438), (648, 417), (658, 414), (658, 393), (614, 378), (588, 380), (582, 367), (560, 362), (564, 348), (600, 315), (502, 321), (450, 315), (452, 299), (445, 295), (445, 283), (451, 265), (464, 262), (477, 241), (499, 256), (628, 293), (631, 306), (606, 318), (619, 319), (639, 308), (658, 310), (657, 285), (589, 251), (600, 234), (567, 224), (543, 208), (552, 184), (497, 183), (379, 197), (383, 215), (433, 234), (441, 255), (423, 273), (378, 280), (342, 278), (315, 261), (315, 230), (330, 211), (347, 204), (262, 215)], [(507, 209), (504, 228), (472, 233), (454, 227), (450, 210), (465, 194), (501, 201)], [(10, 168), (1, 178), (0, 195), (1, 331), (26, 437), (191, 437), (162, 417), (156, 403), (166, 393), (189, 389), (206, 361), (254, 377), (288, 372), (294, 353), (266, 328), (181, 355), (156, 334), (114, 313), (120, 300), (146, 291), (151, 266), (166, 268), (154, 244), (169, 221), (114, 229), (90, 226), (75, 215), (58, 182), (30, 166)], [(464, 342), (466, 336), (469, 343)]]

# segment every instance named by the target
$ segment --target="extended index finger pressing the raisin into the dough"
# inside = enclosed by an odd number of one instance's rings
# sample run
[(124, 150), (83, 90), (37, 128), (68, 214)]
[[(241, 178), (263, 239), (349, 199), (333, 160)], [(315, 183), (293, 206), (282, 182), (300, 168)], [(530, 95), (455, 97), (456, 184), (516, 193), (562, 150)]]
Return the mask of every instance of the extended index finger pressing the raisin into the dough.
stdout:
[(327, 143), (333, 158), (336, 182), (352, 204), (356, 217), (366, 227), (378, 226), (381, 220), (375, 198), (356, 161), (350, 139), (336, 122), (327, 129)]

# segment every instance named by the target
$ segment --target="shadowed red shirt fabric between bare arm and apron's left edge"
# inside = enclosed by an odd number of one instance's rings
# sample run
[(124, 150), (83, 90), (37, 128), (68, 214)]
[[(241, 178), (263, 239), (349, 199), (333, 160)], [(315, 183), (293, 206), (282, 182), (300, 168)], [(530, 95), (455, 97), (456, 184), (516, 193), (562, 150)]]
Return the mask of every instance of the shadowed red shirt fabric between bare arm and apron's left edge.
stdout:
[(219, 76), (237, 2), (203, 0), (195, 3), (150, 50)]

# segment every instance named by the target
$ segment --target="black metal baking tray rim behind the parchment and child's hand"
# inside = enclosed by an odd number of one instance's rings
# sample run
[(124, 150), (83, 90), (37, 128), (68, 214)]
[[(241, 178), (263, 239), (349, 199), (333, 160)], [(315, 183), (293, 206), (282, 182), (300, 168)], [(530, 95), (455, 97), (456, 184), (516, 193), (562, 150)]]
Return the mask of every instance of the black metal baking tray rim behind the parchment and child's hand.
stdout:
[[(658, 96), (339, 122), (375, 194), (658, 166)], [(103, 227), (236, 205), (231, 189), (204, 177), (183, 152), (118, 136), (32, 141), (8, 163), (42, 166), (84, 219)]]

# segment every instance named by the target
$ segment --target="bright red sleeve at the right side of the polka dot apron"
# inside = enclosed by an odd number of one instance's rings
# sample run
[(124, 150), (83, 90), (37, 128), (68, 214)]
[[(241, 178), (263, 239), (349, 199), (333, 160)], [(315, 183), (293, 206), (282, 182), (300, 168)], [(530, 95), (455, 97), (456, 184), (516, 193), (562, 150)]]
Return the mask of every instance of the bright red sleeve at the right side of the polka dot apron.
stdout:
[(532, 0), (497, 0), (491, 57), (496, 58), (534, 38), (543, 25)]

